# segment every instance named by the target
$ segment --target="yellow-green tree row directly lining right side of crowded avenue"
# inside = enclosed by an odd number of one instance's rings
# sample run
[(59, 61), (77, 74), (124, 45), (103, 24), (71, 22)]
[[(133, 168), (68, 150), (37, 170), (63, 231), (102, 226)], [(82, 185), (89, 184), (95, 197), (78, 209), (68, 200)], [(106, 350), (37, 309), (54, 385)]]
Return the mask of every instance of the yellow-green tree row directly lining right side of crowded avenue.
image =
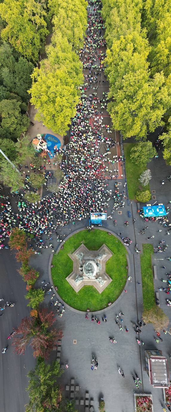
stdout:
[(138, 140), (164, 124), (162, 117), (171, 103), (162, 70), (150, 72), (152, 49), (146, 25), (141, 29), (141, 11), (141, 0), (103, 1), (108, 46), (104, 65), (110, 86), (107, 108), (123, 138), (136, 136)]

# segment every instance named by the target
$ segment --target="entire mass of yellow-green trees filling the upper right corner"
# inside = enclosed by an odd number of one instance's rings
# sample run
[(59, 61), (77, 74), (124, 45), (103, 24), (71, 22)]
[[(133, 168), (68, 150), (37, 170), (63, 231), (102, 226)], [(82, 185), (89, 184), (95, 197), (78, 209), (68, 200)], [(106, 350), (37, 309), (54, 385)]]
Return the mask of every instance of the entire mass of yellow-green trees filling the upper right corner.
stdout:
[(115, 0), (112, 5), (103, 0), (108, 110), (123, 138), (146, 139), (164, 125), (171, 105), (170, 12), (167, 0)]

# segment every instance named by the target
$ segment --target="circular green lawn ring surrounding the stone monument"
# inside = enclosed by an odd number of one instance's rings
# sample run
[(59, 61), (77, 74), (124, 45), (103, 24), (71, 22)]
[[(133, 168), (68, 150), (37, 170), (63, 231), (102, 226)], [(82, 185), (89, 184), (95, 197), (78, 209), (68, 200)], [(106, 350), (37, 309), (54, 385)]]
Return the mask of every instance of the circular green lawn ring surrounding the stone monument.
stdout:
[[(89, 250), (98, 250), (105, 245), (112, 250), (112, 257), (106, 262), (106, 273), (112, 278), (112, 282), (99, 293), (94, 286), (83, 286), (77, 293), (66, 281), (66, 277), (73, 271), (73, 261), (68, 253), (73, 253), (82, 243)], [(52, 280), (57, 286), (57, 293), (69, 306), (80, 311), (98, 311), (107, 307), (109, 302), (114, 302), (121, 294), (127, 280), (127, 250), (123, 244), (113, 235), (104, 230), (82, 230), (71, 236), (64, 248), (53, 256)]]

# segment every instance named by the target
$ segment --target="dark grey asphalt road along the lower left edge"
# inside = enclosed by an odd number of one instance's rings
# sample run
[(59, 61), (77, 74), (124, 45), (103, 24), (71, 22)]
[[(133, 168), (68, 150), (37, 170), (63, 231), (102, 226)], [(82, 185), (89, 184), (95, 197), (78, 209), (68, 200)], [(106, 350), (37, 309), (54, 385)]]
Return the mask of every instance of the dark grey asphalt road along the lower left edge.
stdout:
[[(16, 262), (13, 251), (3, 249), (0, 251), (0, 298), (4, 303), (14, 302), (14, 307), (6, 307), (0, 314), (0, 411), (23, 412), (24, 405), (29, 398), (25, 388), (28, 384), (27, 372), (34, 368), (32, 349), (27, 348), (25, 355), (14, 353), (12, 338), (7, 337), (16, 328), (21, 319), (28, 316), (30, 308), (27, 307), (25, 294), (27, 293), (21, 275), (17, 272), (20, 267)], [(1, 306), (2, 306), (1, 302)], [(1, 353), (3, 347), (8, 346), (6, 353)]]

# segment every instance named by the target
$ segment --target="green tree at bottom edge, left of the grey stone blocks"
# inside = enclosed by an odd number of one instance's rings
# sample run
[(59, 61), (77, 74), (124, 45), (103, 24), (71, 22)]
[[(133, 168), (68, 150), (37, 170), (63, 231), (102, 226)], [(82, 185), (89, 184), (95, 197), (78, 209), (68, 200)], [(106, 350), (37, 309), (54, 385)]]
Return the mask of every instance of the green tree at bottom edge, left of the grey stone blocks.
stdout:
[(28, 373), (30, 382), (27, 388), (30, 402), (26, 405), (26, 412), (43, 412), (60, 410), (62, 392), (57, 385), (57, 378), (62, 375), (59, 361), (46, 364), (38, 360), (34, 370)]

